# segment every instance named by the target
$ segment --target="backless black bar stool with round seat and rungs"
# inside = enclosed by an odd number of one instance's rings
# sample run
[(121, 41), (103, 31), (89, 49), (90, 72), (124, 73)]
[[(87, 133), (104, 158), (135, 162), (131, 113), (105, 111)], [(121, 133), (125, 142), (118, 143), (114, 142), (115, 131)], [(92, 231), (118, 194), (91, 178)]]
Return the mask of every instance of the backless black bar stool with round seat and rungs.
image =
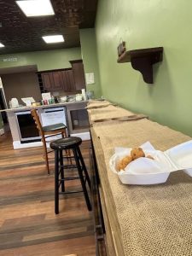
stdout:
[[(84, 165), (84, 159), (82, 157), (79, 145), (82, 143), (80, 137), (65, 137), (50, 143), (50, 148), (55, 150), (55, 214), (59, 213), (59, 195), (60, 194), (72, 194), (78, 192), (84, 192), (84, 199), (87, 204), (87, 208), (91, 211), (90, 198), (86, 189), (86, 182), (90, 187), (90, 177), (88, 175), (86, 166)], [(67, 149), (73, 150), (73, 156), (63, 156), (62, 151)], [(72, 162), (74, 159), (74, 163)], [(67, 164), (64, 163), (67, 161)], [(69, 163), (70, 161), (70, 163)], [(79, 176), (65, 177), (64, 170), (76, 168), (79, 172)], [(65, 181), (80, 179), (83, 191), (66, 191)], [(60, 191), (61, 187), (61, 191)]]

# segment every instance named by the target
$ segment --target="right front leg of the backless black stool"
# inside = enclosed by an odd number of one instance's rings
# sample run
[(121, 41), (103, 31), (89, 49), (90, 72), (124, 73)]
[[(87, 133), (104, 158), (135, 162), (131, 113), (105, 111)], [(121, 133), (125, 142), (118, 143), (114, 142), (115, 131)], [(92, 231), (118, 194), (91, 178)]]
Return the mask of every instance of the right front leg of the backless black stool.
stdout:
[(84, 199), (86, 201), (88, 210), (91, 211), (92, 207), (91, 207), (91, 204), (90, 204), (90, 198), (89, 198), (89, 195), (88, 195), (88, 192), (87, 192), (87, 189), (86, 189), (86, 184), (84, 182), (83, 170), (82, 170), (82, 167), (80, 166), (80, 163), (79, 163), (79, 155), (76, 151), (76, 148), (73, 148), (73, 154), (74, 154), (74, 159), (75, 159), (76, 165), (78, 167), (81, 186), (82, 186), (83, 191), (84, 191)]

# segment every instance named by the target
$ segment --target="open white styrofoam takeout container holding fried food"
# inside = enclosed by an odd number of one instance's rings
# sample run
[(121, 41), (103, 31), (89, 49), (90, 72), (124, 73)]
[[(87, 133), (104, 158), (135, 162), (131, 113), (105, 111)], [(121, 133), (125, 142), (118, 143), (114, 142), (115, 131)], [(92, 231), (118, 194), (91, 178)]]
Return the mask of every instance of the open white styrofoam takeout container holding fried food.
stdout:
[(178, 170), (183, 170), (192, 177), (192, 141), (179, 144), (165, 152), (155, 150), (150, 143), (144, 143), (140, 148), (143, 148), (145, 155), (153, 156), (154, 160), (141, 157), (133, 160), (125, 167), (125, 171), (120, 172), (117, 172), (117, 163), (131, 154), (131, 148), (115, 148), (109, 166), (122, 183), (137, 185), (165, 183), (169, 174)]

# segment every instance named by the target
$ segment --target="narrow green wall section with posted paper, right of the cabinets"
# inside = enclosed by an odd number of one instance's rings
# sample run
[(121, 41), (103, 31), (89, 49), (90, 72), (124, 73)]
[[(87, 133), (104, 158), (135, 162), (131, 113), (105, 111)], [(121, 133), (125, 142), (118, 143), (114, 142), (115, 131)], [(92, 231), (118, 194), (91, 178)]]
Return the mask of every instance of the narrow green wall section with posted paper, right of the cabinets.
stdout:
[(84, 61), (84, 73), (94, 73), (95, 79), (95, 84), (86, 84), (86, 90), (93, 90), (95, 97), (101, 97), (95, 29), (81, 29), (80, 42), (82, 59)]

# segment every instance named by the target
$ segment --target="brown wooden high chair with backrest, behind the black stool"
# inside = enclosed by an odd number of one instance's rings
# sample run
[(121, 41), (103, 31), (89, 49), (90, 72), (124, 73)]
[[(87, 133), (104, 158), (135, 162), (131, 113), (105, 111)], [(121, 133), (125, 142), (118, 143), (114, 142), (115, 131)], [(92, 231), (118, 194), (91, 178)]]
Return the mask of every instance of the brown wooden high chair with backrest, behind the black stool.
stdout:
[[(38, 117), (38, 113), (36, 109), (32, 109), (31, 110), (31, 114), (32, 114), (32, 118), (35, 120), (35, 124), (38, 128), (38, 132), (41, 136), (41, 140), (43, 143), (43, 147), (44, 147), (44, 158), (45, 158), (45, 162), (46, 162), (46, 166), (47, 166), (47, 172), (48, 174), (49, 172), (49, 157), (48, 154), (51, 151), (47, 150), (47, 144), (46, 144), (46, 137), (51, 137), (51, 136), (55, 136), (58, 134), (61, 134), (62, 137), (67, 137), (67, 126), (64, 124), (56, 124), (56, 125), (47, 125), (47, 126), (42, 126), (40, 119)], [(70, 155), (70, 154), (69, 154)]]

